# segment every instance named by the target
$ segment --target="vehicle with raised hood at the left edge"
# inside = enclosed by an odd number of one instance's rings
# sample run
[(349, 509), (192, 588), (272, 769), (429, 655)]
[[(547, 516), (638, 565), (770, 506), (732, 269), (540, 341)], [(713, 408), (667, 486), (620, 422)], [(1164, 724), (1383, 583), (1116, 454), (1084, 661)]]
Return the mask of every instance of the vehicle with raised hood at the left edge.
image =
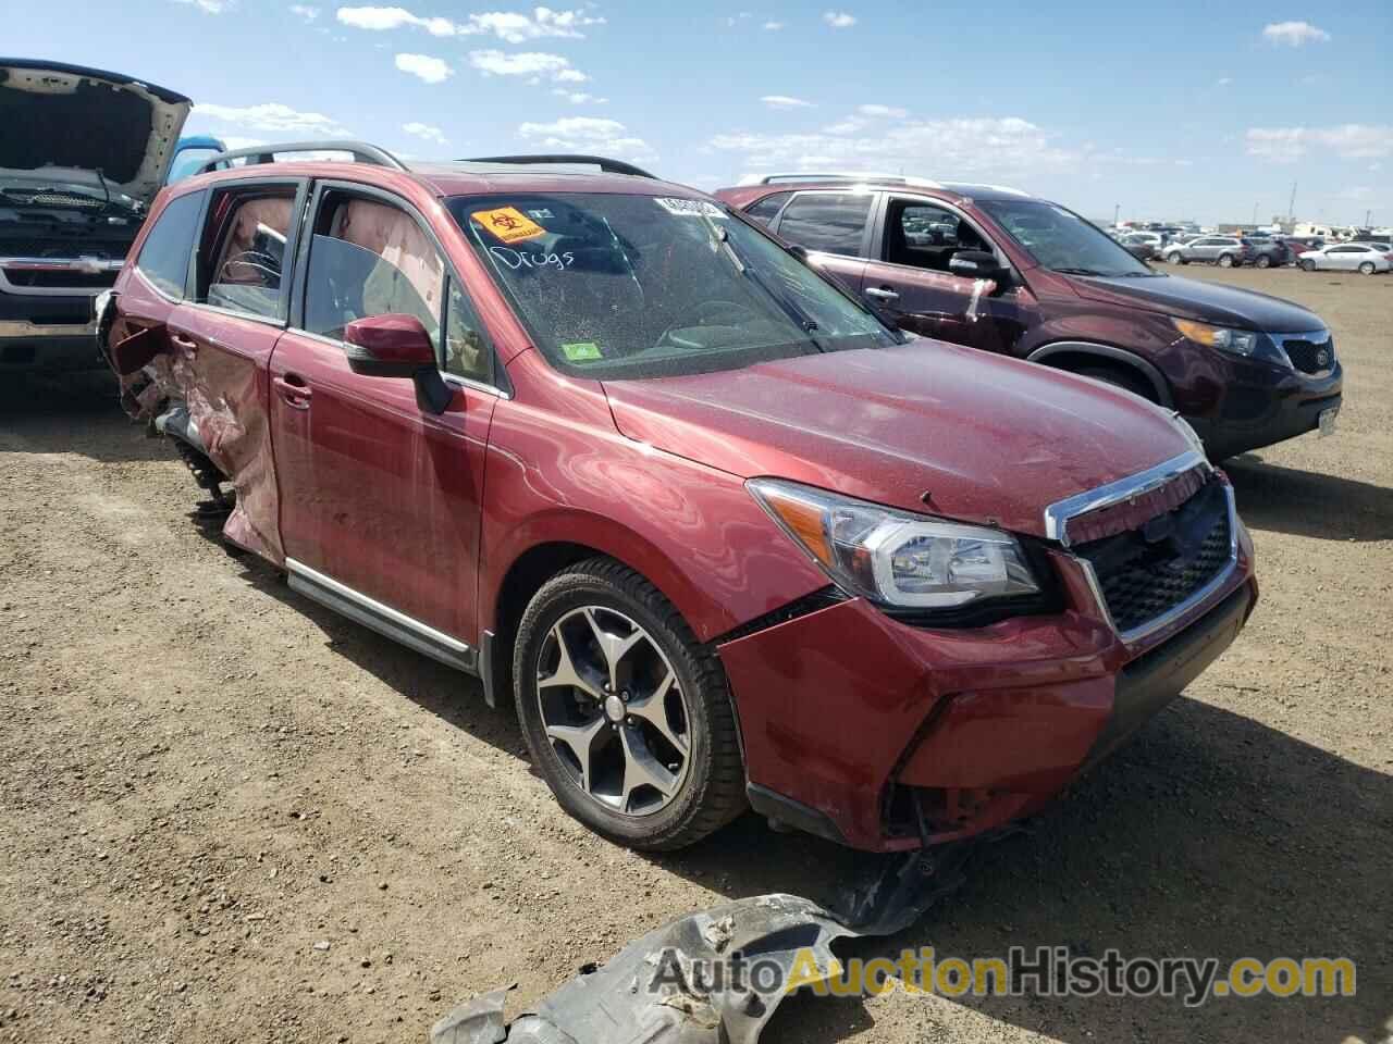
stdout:
[(102, 367), (92, 301), (164, 185), (189, 109), (120, 72), (0, 58), (0, 370)]

